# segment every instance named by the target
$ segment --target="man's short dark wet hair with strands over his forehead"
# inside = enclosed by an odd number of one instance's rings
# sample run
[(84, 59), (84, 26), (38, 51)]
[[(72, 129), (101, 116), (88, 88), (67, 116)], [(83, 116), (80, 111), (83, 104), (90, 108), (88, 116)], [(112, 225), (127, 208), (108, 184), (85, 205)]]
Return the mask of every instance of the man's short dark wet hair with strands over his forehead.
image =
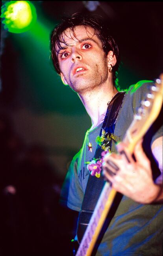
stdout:
[(107, 55), (107, 53), (112, 50), (113, 54), (116, 56), (117, 63), (113, 67), (113, 82), (115, 83), (117, 71), (119, 69), (119, 48), (117, 46), (117, 43), (113, 39), (113, 37), (110, 35), (109, 29), (106, 26), (106, 22), (102, 20), (102, 17), (99, 15), (85, 15), (82, 13), (74, 13), (70, 17), (65, 17), (61, 20), (60, 24), (56, 26), (56, 28), (52, 31), (51, 34), (51, 57), (54, 64), (54, 67), (58, 74), (60, 74), (61, 70), (59, 68), (59, 62), (57, 58), (57, 47), (60, 49), (63, 49), (61, 47), (61, 43), (64, 43), (65, 45), (69, 46), (63, 39), (63, 32), (67, 30), (67, 28), (70, 28), (73, 35), (74, 34), (74, 27), (75, 26), (87, 26), (94, 29), (94, 34), (100, 39), (103, 45), (104, 53)]

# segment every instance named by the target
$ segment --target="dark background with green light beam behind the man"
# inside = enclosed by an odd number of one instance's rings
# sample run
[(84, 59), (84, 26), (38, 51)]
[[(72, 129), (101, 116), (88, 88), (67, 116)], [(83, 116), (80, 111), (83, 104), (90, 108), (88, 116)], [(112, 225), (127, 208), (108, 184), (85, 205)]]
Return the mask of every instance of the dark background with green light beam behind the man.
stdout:
[(91, 121), (52, 67), (50, 33), (63, 15), (104, 17), (120, 48), (119, 86), (128, 88), (163, 71), (163, 3), (102, 1), (91, 11), (90, 1), (31, 2), (31, 31), (1, 24), (0, 255), (69, 256), (76, 213), (58, 200)]

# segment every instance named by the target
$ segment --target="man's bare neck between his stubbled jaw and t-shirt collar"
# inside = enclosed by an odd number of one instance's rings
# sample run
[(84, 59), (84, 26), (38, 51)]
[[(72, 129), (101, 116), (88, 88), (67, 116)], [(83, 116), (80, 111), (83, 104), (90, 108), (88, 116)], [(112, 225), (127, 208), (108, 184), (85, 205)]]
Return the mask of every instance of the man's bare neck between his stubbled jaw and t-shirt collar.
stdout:
[(107, 111), (107, 103), (111, 101), (117, 92), (113, 84), (107, 84), (79, 95), (87, 113), (91, 117), (91, 129), (103, 122)]

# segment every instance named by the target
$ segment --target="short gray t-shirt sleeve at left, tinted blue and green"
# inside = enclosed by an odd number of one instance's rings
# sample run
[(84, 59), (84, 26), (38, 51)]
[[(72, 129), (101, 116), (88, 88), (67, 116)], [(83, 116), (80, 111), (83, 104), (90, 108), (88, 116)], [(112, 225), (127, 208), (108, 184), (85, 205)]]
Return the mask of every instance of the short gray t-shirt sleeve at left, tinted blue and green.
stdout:
[(80, 211), (83, 201), (83, 190), (78, 178), (78, 158), (74, 156), (61, 191), (60, 202), (70, 209)]

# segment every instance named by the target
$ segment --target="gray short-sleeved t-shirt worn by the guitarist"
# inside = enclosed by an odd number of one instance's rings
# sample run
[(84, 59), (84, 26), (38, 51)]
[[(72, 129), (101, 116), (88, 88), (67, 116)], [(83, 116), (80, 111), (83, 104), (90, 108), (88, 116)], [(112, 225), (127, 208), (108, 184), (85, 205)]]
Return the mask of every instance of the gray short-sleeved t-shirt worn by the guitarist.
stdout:
[[(142, 81), (138, 82), (126, 92), (115, 126), (114, 135), (116, 141), (122, 141), (126, 130), (133, 120), (134, 113), (136, 113), (141, 100), (148, 91), (148, 85), (150, 83), (144, 83), (141, 86), (142, 84)], [(147, 132), (144, 139), (144, 150), (145, 148), (148, 149), (146, 150), (146, 154), (150, 159), (152, 159), (152, 153), (149, 150), (150, 144), (162, 136), (160, 126), (160, 121), (157, 120), (155, 125)], [(67, 189), (67, 206), (72, 210), (81, 210), (90, 173), (85, 162), (91, 161), (94, 157), (96, 150), (95, 139), (100, 134), (101, 127), (102, 124), (86, 132), (83, 147), (74, 156), (70, 165), (63, 194), (65, 194), (65, 189)], [(88, 150), (87, 145), (89, 142), (92, 143), (92, 152)], [(116, 152), (114, 143), (111, 151)], [(156, 178), (157, 174), (154, 173), (153, 176)], [(162, 214), (162, 204), (143, 205), (126, 196), (122, 196), (122, 200), (104, 234), (96, 255), (162, 255)]]

